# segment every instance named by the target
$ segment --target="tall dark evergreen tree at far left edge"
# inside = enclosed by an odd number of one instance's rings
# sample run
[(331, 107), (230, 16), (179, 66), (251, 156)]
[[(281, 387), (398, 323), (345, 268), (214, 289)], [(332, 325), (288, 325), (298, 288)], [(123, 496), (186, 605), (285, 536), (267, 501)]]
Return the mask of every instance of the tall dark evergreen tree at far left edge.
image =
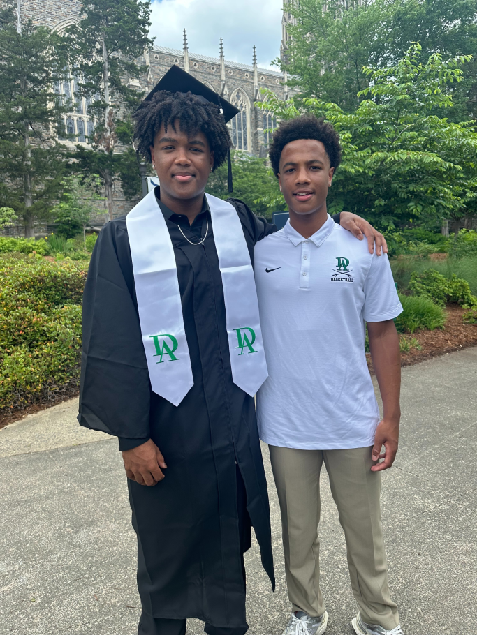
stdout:
[(58, 122), (68, 110), (54, 91), (65, 66), (65, 45), (31, 20), (17, 28), (10, 8), (0, 12), (0, 206), (23, 218), (45, 218), (67, 165)]

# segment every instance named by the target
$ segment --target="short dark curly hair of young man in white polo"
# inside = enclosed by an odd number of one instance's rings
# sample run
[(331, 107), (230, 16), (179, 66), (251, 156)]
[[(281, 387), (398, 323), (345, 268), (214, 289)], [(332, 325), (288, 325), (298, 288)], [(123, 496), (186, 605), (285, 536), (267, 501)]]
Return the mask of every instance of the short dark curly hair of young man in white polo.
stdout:
[(282, 121), (274, 131), (272, 143), (268, 151), (272, 170), (277, 176), (280, 171), (281, 153), (287, 143), (298, 139), (316, 139), (325, 146), (326, 154), (330, 159), (330, 167), (335, 170), (342, 160), (342, 148), (339, 144), (339, 136), (335, 128), (321, 117), (314, 114), (303, 114), (288, 121)]

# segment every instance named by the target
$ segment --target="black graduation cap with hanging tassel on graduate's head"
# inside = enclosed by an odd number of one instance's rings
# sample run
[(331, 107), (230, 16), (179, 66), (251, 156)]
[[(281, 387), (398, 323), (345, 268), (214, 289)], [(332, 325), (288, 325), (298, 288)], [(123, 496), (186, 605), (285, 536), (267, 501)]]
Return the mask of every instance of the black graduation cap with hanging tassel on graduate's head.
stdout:
[[(157, 91), (168, 91), (170, 93), (192, 93), (193, 95), (198, 96), (203, 100), (204, 103), (211, 102), (219, 106), (221, 112), (223, 113), (223, 118), (226, 121), (226, 124), (230, 119), (233, 119), (236, 114), (239, 114), (240, 110), (229, 103), (226, 99), (223, 99), (218, 93), (214, 92), (212, 89), (208, 88), (200, 82), (196, 80), (196, 77), (192, 77), (190, 73), (186, 73), (185, 70), (179, 68), (177, 64), (171, 66), (166, 73), (162, 77), (159, 82), (154, 86), (152, 91), (145, 97), (144, 102), (147, 102), (152, 99), (154, 94)], [(143, 103), (144, 103), (143, 102)], [(140, 107), (140, 106), (139, 106)], [(232, 192), (232, 162), (230, 160), (230, 149), (227, 154), (227, 163), (228, 163), (228, 191)]]

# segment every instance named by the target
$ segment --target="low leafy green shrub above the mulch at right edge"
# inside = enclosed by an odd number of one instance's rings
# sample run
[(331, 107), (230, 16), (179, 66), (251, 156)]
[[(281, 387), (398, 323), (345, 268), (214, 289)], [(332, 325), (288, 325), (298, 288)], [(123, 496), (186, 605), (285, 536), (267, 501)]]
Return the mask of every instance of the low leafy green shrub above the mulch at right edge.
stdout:
[(453, 274), (445, 278), (436, 269), (428, 269), (422, 273), (413, 271), (409, 289), (416, 295), (428, 297), (436, 304), (444, 305), (447, 302), (455, 304), (474, 305), (477, 298), (471, 294), (469, 283)]

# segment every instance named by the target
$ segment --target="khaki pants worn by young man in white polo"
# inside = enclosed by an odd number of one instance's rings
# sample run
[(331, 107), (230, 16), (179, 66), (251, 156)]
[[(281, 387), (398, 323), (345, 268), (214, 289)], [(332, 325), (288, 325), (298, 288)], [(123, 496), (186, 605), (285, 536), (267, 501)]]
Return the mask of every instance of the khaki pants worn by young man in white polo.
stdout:
[(286, 583), (293, 611), (304, 611), (313, 617), (325, 611), (318, 538), (320, 471), (324, 460), (344, 529), (351, 587), (362, 619), (391, 630), (399, 624), (399, 615), (389, 594), (379, 509), (381, 475), (370, 469), (371, 450), (270, 446), (270, 458), (280, 502)]

